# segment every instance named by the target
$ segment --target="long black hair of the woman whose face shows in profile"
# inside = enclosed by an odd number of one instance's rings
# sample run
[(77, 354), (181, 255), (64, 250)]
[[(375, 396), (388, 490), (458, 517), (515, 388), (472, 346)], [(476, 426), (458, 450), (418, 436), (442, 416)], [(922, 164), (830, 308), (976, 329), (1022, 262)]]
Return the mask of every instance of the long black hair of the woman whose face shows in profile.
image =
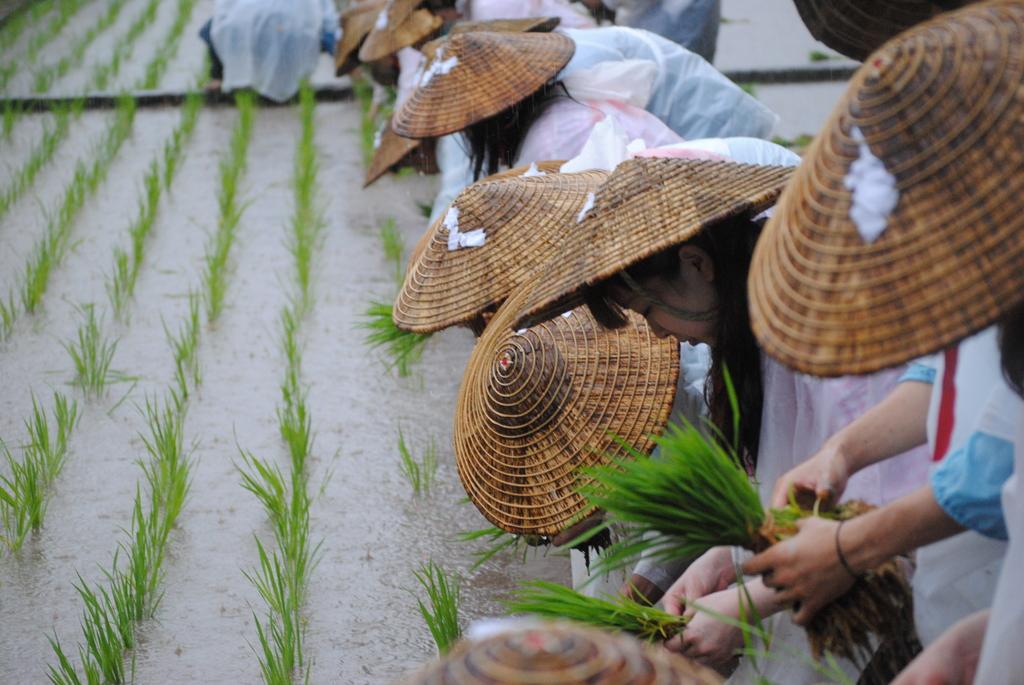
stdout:
[[(712, 363), (705, 384), (705, 398), (710, 408), (711, 422), (731, 444), (732, 406), (725, 383), (725, 370), (736, 391), (739, 405), (740, 457), (751, 466), (757, 465), (761, 439), (761, 411), (764, 405), (764, 381), (761, 373), (761, 349), (751, 330), (748, 309), (746, 272), (751, 267), (754, 245), (761, 233), (760, 222), (737, 218), (703, 230), (686, 245), (698, 247), (711, 256), (715, 269), (715, 290), (718, 293), (718, 323)], [(634, 277), (659, 273), (673, 277), (679, 271), (675, 246), (630, 267)], [(594, 317), (606, 328), (626, 325), (622, 309), (608, 296), (611, 280), (584, 292)]]

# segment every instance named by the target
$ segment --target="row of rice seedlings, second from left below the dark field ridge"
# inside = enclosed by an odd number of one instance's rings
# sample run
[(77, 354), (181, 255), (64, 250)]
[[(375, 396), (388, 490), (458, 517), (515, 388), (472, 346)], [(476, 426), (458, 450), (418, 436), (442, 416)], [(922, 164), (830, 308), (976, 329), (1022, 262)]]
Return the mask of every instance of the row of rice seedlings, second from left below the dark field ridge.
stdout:
[(36, 243), (29, 257), (20, 290), (22, 306), (26, 312), (34, 312), (42, 301), (50, 274), (67, 252), (71, 229), (79, 211), (106, 177), (114, 158), (131, 133), (134, 121), (135, 100), (129, 96), (121, 97), (114, 118), (93, 151), (91, 163), (79, 161), (75, 167), (75, 175), (65, 189), (60, 206), (49, 217), (42, 239)]

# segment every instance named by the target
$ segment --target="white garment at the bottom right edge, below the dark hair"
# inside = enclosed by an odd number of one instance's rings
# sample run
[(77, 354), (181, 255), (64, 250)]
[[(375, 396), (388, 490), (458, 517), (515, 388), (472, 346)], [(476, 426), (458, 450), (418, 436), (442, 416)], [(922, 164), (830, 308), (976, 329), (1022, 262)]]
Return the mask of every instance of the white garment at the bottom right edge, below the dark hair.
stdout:
[(1007, 435), (1014, 443), (1014, 475), (1002, 487), (1002, 515), (1010, 531), (1010, 546), (985, 630), (974, 679), (977, 685), (1024, 684), (1024, 593), (1020, 588), (1024, 579), (1024, 402), (1009, 387), (1004, 388), (1004, 405), (1016, 412), (1015, 434)]

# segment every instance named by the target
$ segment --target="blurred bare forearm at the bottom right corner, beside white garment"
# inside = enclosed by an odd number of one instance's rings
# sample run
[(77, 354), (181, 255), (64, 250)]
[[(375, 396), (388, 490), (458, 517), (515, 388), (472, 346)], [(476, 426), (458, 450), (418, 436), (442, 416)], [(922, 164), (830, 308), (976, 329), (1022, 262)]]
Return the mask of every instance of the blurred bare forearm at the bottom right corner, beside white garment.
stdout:
[(893, 685), (971, 685), (987, 625), (987, 610), (954, 624), (918, 654)]

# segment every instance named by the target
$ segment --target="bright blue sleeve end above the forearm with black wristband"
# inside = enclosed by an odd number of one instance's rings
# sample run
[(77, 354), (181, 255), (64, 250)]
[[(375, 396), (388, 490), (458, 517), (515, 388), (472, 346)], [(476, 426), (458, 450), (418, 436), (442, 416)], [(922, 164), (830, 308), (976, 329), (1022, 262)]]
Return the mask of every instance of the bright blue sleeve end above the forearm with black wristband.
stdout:
[(932, 473), (932, 491), (939, 506), (961, 525), (1007, 540), (1001, 495), (1013, 470), (1013, 443), (975, 432)]

